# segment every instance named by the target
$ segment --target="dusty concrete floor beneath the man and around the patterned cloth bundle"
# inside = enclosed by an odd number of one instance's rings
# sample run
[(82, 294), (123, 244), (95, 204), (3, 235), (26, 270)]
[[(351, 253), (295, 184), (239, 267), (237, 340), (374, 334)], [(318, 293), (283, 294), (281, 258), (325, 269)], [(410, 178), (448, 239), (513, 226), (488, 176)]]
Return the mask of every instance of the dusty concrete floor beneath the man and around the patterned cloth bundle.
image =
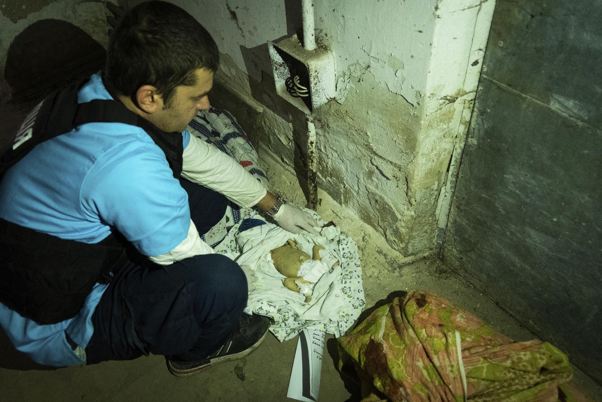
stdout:
[[(486, 295), (436, 259), (404, 265), (399, 271), (364, 278), (367, 306), (406, 287), (430, 289), (459, 303), (497, 330), (523, 341), (533, 335)], [(52, 370), (18, 353), (0, 335), (0, 401), (287, 401), (296, 340), (280, 343), (268, 335), (257, 350), (238, 362), (223, 363), (188, 378), (173, 377), (163, 356)], [(336, 370), (335, 339), (327, 338), (319, 400), (356, 401), (358, 386)], [(576, 372), (576, 382), (591, 395), (600, 386)], [(353, 396), (352, 396), (353, 395)], [(600, 399), (597, 399), (600, 400)], [(292, 400), (291, 400), (292, 401)]]

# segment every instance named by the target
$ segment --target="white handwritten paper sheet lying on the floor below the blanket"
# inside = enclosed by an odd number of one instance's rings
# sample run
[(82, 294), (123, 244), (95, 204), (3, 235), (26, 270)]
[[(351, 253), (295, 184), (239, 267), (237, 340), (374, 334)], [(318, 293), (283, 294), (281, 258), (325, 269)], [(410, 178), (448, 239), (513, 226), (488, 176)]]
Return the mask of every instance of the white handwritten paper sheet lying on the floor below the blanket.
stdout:
[(287, 397), (289, 398), (305, 402), (318, 400), (326, 334), (320, 327), (323, 328), (323, 326), (306, 327), (299, 333), (293, 371), (288, 383)]

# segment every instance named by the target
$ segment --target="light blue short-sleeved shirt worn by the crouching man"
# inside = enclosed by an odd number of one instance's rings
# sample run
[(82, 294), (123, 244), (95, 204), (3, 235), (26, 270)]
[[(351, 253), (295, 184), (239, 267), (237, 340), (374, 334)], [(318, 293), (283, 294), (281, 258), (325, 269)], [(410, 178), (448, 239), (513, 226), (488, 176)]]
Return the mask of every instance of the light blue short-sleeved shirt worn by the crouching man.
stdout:
[[(78, 93), (79, 103), (92, 99), (113, 99), (99, 73)], [(182, 137), (187, 147), (190, 134)], [(122, 123), (88, 123), (37, 145), (2, 178), (0, 217), (83, 243), (99, 243), (113, 226), (147, 256), (173, 250), (190, 226), (187, 193), (163, 150), (143, 129)], [(75, 317), (51, 325), (0, 303), (0, 326), (38, 363), (80, 365), (107, 286), (97, 283)], [(66, 333), (79, 348), (72, 350)]]

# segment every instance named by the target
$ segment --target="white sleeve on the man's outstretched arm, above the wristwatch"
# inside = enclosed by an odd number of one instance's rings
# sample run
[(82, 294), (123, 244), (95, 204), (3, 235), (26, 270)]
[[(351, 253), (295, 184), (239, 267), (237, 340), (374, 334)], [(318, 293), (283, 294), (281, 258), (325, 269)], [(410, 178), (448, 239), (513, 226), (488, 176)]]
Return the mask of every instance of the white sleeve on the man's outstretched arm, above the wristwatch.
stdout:
[(258, 203), (267, 190), (231, 156), (190, 135), (182, 154), (182, 177), (226, 196), (243, 208)]

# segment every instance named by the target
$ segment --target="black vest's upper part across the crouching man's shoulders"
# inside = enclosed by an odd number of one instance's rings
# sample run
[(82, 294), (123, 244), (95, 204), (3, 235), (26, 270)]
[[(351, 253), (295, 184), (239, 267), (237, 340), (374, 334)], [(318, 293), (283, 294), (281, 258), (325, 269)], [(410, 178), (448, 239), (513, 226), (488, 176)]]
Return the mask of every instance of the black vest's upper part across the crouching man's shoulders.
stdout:
[(94, 99), (78, 104), (81, 80), (55, 91), (38, 104), (25, 118), (7, 150), (0, 157), (0, 177), (27, 155), (37, 144), (72, 131), (85, 123), (125, 123), (138, 126), (163, 150), (177, 179), (182, 173), (182, 135), (166, 133), (138, 116), (117, 100)]

